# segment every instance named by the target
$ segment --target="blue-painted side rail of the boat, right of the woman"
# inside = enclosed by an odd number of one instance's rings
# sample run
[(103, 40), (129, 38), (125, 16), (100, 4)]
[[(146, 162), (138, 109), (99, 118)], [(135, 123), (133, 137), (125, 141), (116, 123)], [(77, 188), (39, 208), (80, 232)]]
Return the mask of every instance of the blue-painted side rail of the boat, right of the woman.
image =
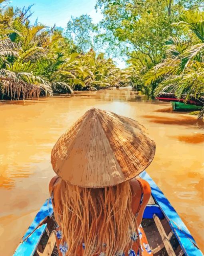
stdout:
[(140, 173), (140, 177), (145, 179), (150, 184), (152, 189), (152, 196), (156, 203), (160, 206), (160, 209), (162, 210), (166, 220), (172, 228), (172, 231), (178, 239), (184, 254), (186, 256), (203, 256), (188, 228), (186, 228), (186, 225), (182, 222), (181, 218), (178, 216), (177, 212), (170, 204), (168, 199), (164, 196), (162, 191), (158, 188), (156, 183), (146, 173), (146, 171)]

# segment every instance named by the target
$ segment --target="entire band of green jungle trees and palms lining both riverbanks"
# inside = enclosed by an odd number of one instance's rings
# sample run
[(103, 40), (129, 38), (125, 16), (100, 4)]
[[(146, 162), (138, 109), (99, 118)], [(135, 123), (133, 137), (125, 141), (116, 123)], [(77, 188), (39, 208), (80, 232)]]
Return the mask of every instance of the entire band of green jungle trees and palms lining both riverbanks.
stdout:
[[(31, 24), (32, 6), (0, 2), (3, 96), (127, 85), (151, 98), (162, 92), (204, 96), (202, 0), (97, 0), (99, 24), (84, 14), (72, 17), (64, 32)], [(126, 60), (127, 68), (116, 67), (115, 58)]]

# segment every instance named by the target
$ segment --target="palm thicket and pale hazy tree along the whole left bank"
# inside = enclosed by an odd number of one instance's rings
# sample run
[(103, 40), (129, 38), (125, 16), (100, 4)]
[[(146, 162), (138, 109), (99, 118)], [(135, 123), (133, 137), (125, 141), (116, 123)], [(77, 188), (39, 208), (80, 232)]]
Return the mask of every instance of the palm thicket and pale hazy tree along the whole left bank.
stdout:
[(125, 85), (114, 62), (92, 49), (97, 27), (88, 15), (68, 22), (62, 30), (31, 25), (32, 6), (0, 9), (0, 87), (10, 99), (73, 93), (76, 86)]

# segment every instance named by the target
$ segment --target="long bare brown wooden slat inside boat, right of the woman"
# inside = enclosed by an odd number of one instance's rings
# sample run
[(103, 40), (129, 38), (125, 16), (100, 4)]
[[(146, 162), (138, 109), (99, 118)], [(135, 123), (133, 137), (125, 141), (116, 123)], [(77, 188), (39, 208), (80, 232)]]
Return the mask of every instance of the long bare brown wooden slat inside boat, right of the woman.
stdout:
[(158, 231), (159, 231), (159, 234), (160, 236), (162, 237), (162, 241), (164, 243), (164, 246), (166, 248), (166, 251), (168, 253), (169, 256), (176, 256), (173, 248), (172, 248), (172, 245), (168, 239), (168, 236), (162, 226), (162, 223), (160, 222), (160, 219), (158, 218), (158, 216), (156, 216), (156, 214), (153, 215), (153, 218), (154, 218), (154, 222), (158, 228)]

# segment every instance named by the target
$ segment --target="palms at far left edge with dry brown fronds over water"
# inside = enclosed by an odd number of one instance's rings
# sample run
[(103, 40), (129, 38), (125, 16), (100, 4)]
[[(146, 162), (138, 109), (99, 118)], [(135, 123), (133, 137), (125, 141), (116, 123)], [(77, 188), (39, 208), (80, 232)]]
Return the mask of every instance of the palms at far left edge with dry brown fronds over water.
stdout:
[(31, 63), (32, 56), (38, 51), (37, 46), (30, 48), (29, 44), (34, 38), (36, 27), (29, 28), (28, 24), (24, 25), (19, 14), (20, 11), (12, 7), (0, 13), (1, 92), (11, 99), (39, 97), (42, 91), (46, 95), (52, 94), (50, 84), (34, 75), (35, 65)]

